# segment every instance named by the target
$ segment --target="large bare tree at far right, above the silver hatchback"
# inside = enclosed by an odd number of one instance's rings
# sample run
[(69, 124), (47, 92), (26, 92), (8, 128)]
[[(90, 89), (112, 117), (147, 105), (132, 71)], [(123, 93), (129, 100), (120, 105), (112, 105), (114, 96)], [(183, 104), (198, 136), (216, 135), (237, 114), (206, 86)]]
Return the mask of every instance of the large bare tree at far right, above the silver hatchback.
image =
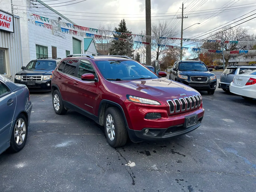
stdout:
[[(240, 26), (233, 27), (229, 29), (230, 26), (223, 27), (221, 30), (217, 31), (214, 35), (214, 39), (225, 39), (225, 41), (246, 41), (249, 38), (248, 29), (242, 28)], [(235, 50), (245, 50), (247, 45), (240, 44), (224, 44), (225, 51), (235, 51)], [(225, 55), (225, 66), (227, 67), (230, 59), (230, 55)]]

